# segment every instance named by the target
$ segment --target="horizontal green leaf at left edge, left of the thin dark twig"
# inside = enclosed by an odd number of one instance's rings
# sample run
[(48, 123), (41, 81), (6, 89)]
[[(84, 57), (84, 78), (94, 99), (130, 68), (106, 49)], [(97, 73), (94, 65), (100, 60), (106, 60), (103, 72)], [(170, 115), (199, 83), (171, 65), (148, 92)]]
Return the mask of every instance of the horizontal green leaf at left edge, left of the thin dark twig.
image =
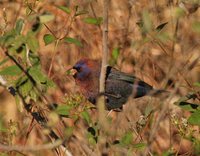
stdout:
[(9, 66), (0, 71), (0, 75), (16, 76), (21, 74), (22, 71), (17, 65)]

